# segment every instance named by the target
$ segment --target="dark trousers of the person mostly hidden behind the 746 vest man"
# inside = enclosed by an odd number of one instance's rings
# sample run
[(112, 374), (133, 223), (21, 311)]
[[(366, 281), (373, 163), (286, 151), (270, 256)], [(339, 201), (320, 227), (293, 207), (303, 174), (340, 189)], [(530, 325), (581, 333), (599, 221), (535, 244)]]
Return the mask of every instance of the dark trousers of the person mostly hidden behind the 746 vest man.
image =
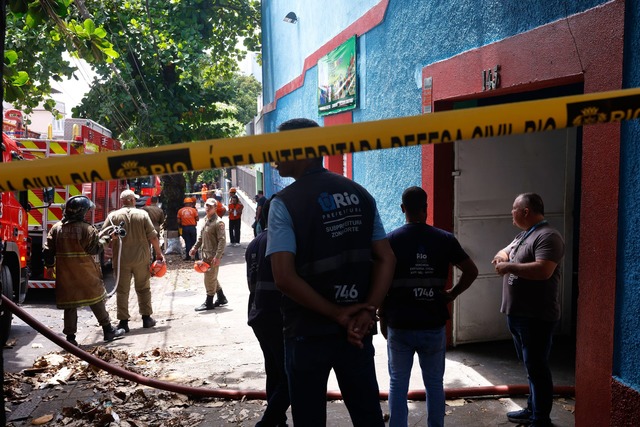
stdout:
[(264, 370), (267, 374), (267, 409), (256, 427), (286, 426), (287, 409), (289, 409), (289, 385), (284, 369), (282, 324), (260, 322), (251, 327), (260, 342), (260, 348), (264, 355)]

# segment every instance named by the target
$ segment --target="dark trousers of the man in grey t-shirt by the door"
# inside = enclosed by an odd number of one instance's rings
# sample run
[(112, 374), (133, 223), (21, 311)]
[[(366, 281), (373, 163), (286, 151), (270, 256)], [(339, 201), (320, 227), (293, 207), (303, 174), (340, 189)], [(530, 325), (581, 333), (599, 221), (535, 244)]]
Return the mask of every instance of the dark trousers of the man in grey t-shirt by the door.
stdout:
[(529, 380), (527, 406), (533, 413), (532, 421), (534, 422), (551, 422), (553, 379), (549, 367), (549, 354), (556, 324), (555, 321), (507, 316), (507, 325), (513, 335), (518, 359), (524, 362), (527, 370)]

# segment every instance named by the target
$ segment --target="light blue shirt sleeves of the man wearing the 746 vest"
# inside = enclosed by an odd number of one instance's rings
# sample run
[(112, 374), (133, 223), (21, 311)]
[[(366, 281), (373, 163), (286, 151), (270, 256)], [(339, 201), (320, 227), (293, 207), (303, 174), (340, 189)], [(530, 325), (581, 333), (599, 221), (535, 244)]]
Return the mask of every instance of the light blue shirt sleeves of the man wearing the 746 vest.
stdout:
[[(296, 235), (293, 231), (291, 215), (278, 197), (271, 199), (269, 208), (269, 226), (267, 227), (267, 256), (276, 252), (296, 253)], [(371, 241), (382, 240), (387, 237), (380, 214), (376, 208), (373, 218), (373, 236)]]

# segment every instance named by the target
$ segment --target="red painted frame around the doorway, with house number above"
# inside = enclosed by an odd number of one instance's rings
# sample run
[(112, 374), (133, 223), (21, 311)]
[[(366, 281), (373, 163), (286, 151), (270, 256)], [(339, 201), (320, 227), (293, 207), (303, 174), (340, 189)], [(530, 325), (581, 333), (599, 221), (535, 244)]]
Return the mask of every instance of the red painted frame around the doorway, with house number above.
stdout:
[[(624, 1), (617, 0), (427, 66), (423, 77), (433, 77), (432, 107), (436, 111), (446, 101), (580, 81), (585, 92), (619, 89), (623, 29)], [(501, 66), (501, 88), (482, 92), (482, 70), (496, 64)], [(576, 426), (606, 426), (612, 421), (619, 145), (619, 125), (583, 129)], [(423, 185), (430, 194), (437, 194), (438, 179), (451, 172), (434, 148), (425, 147), (422, 159)], [(441, 211), (437, 203), (441, 202), (436, 197), (430, 216)], [(451, 210), (447, 213), (452, 216)]]

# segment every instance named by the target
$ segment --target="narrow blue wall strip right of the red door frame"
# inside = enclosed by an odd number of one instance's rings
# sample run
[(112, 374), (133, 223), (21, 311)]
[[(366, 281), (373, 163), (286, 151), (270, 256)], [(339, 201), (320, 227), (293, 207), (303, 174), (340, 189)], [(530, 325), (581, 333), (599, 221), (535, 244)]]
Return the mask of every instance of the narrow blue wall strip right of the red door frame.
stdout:
[[(627, 0), (624, 87), (640, 87), (640, 0)], [(640, 391), (640, 120), (622, 125), (614, 375)]]

